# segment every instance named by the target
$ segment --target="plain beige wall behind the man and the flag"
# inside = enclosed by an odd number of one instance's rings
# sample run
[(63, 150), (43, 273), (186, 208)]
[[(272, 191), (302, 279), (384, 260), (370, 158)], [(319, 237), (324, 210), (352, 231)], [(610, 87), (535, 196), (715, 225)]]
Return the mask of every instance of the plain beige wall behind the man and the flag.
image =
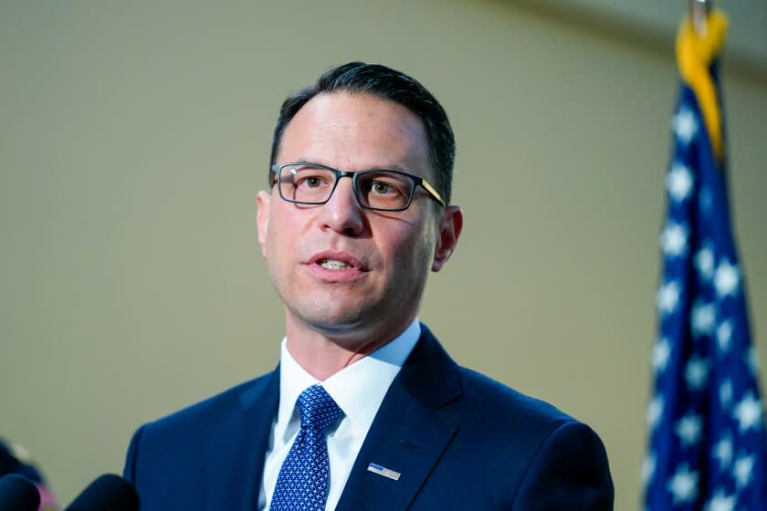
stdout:
[[(457, 133), (466, 228), (421, 318), (591, 423), (635, 508), (671, 55), (489, 1), (3, 2), (0, 435), (68, 502), (140, 423), (275, 365), (253, 200), (270, 130), (290, 90), (365, 59), (423, 81)], [(758, 337), (767, 84), (724, 81)]]

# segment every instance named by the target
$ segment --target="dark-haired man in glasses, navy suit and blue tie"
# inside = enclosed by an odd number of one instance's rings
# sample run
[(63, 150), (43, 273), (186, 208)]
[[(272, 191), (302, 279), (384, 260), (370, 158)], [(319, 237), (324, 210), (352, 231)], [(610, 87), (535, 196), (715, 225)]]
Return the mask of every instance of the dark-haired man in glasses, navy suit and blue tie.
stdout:
[(283, 103), (257, 195), (280, 364), (134, 435), (142, 510), (612, 509), (591, 429), (418, 322), (461, 233), (454, 155), (445, 111), (394, 69), (332, 68)]

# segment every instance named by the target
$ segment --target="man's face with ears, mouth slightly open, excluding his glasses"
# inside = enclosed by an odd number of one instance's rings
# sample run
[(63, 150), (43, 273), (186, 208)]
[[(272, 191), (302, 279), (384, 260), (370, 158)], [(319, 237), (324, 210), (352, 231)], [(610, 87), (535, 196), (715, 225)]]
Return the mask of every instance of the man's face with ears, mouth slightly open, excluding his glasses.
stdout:
[[(434, 183), (423, 122), (368, 94), (311, 99), (289, 122), (277, 162), (394, 169)], [(347, 178), (322, 205), (283, 201), (276, 185), (257, 203), (258, 239), (289, 339), (314, 331), (350, 348), (392, 339), (415, 318), (429, 269), (447, 260), (460, 231), (460, 211), (441, 208), (420, 187), (401, 212), (363, 209)]]

